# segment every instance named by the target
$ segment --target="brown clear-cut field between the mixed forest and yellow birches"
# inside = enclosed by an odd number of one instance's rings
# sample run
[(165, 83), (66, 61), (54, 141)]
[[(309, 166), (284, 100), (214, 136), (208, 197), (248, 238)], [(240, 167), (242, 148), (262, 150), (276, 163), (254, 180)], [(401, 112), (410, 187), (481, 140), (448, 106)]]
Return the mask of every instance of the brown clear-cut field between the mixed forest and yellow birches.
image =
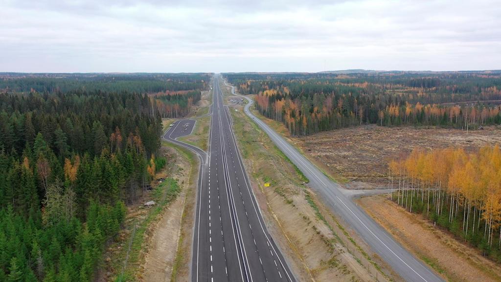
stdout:
[(501, 143), (501, 128), (461, 131), (447, 128), (356, 126), (306, 137), (289, 137), (310, 160), (338, 180), (385, 183), (388, 161), (416, 147), (463, 147), (466, 151)]

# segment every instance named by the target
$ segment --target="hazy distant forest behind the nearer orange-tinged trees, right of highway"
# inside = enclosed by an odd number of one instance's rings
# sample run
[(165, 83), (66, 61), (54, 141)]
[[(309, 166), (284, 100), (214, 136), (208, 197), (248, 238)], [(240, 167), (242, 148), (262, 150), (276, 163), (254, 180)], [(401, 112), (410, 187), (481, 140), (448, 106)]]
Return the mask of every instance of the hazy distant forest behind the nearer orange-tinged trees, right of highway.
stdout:
[[(242, 94), (288, 87), (293, 93), (393, 94), (411, 104), (501, 99), (501, 72), (228, 73)], [(339, 87), (349, 86), (349, 87)], [(398, 100), (397, 100), (398, 101)]]

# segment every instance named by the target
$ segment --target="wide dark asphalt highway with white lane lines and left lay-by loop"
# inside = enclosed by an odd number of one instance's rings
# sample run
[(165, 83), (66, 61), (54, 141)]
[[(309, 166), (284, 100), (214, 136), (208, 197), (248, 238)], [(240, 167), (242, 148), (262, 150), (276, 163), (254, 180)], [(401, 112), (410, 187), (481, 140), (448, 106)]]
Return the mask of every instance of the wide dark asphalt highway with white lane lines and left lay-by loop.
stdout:
[(218, 79), (216, 75), (208, 154), (176, 140), (186, 119), (177, 121), (164, 135), (195, 152), (201, 163), (191, 280), (296, 281), (266, 229), (236, 147)]

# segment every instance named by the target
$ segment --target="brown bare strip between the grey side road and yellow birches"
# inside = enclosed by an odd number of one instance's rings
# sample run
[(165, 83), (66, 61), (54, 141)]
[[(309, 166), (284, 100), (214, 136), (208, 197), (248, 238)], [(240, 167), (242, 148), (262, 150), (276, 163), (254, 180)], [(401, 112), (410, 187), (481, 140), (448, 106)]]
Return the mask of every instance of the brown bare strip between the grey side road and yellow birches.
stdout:
[(434, 227), (421, 215), (408, 213), (382, 195), (357, 202), (402, 245), (448, 280), (501, 281), (499, 265)]

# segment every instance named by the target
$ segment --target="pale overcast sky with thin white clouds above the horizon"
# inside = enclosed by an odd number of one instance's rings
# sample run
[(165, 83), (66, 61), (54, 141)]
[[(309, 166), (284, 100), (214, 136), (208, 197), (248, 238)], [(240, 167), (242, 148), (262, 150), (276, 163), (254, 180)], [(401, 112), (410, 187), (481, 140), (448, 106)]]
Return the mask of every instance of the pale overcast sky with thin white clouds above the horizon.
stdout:
[(0, 72), (501, 69), (475, 1), (0, 0)]

